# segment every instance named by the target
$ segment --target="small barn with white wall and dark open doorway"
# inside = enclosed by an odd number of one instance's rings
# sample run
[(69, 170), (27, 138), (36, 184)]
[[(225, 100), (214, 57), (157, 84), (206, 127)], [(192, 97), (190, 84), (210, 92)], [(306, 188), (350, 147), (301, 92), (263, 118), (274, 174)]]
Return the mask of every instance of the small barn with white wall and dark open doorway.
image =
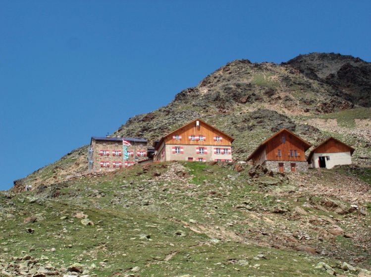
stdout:
[(314, 168), (332, 168), (335, 165), (351, 164), (354, 148), (345, 143), (329, 137), (308, 156), (308, 163)]

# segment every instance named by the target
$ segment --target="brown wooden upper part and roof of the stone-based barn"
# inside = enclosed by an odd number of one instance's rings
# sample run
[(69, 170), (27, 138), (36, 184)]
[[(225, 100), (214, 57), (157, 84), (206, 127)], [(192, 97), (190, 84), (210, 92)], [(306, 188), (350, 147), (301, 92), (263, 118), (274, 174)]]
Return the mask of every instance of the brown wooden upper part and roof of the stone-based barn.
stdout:
[[(284, 136), (284, 142), (282, 137)], [(283, 128), (266, 139), (248, 158), (254, 161), (261, 156), (262, 151), (265, 151), (265, 160), (290, 160), (290, 161), (305, 161), (305, 152), (311, 145), (295, 135), (293, 132)], [(296, 157), (295, 157), (296, 150)], [(279, 156), (280, 151), (280, 156)], [(291, 157), (291, 152), (293, 157)]]

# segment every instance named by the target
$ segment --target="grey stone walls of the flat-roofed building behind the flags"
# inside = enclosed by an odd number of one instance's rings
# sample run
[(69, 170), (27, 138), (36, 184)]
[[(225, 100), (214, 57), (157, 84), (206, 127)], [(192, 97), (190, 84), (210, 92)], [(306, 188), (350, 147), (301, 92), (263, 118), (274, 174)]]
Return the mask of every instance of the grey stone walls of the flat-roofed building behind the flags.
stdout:
[[(136, 163), (138, 161), (146, 160), (148, 159), (147, 156), (141, 157), (137, 156), (137, 151), (145, 151), (148, 154), (147, 151), (147, 143), (144, 142), (130, 142), (131, 146), (127, 147), (128, 151), (133, 151), (134, 156), (129, 156), (128, 159), (125, 161), (129, 161), (132, 163)], [(93, 147), (93, 170), (98, 171), (108, 171), (112, 169), (117, 169), (117, 167), (113, 167), (113, 162), (119, 161), (122, 163), (122, 167), (124, 167), (124, 160), (123, 160), (123, 149), (122, 149), (122, 142), (121, 141), (102, 141), (102, 140), (92, 140), (91, 146)], [(101, 156), (100, 151), (101, 150), (107, 150), (109, 155), (107, 156)], [(112, 151), (119, 150), (121, 151), (121, 156), (114, 156), (112, 154)], [(101, 167), (101, 161), (108, 161), (109, 167)]]

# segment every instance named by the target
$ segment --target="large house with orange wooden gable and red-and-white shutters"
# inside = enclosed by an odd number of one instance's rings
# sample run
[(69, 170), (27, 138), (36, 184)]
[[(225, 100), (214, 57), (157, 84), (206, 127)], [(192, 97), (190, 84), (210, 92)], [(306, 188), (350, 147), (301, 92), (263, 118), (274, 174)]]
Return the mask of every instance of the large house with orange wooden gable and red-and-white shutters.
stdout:
[(232, 161), (233, 138), (195, 119), (155, 142), (154, 161)]

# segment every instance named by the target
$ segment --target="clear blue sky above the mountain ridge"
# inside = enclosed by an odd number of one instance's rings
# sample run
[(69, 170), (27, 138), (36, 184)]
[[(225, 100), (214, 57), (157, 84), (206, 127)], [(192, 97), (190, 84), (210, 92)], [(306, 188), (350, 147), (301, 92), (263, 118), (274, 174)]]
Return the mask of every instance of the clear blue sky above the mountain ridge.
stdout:
[(0, 190), (235, 59), (371, 61), (371, 1), (0, 1)]

